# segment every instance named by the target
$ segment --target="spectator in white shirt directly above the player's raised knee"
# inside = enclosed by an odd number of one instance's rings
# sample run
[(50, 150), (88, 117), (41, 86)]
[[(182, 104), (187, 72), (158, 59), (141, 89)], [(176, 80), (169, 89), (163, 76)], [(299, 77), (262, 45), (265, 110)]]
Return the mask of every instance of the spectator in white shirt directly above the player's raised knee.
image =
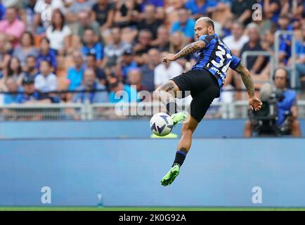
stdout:
[[(167, 56), (167, 52), (162, 52), (161, 58)], [(161, 84), (167, 82), (167, 80), (181, 75), (183, 72), (182, 66), (175, 61), (167, 61), (167, 63), (160, 63), (155, 68), (155, 89)]]

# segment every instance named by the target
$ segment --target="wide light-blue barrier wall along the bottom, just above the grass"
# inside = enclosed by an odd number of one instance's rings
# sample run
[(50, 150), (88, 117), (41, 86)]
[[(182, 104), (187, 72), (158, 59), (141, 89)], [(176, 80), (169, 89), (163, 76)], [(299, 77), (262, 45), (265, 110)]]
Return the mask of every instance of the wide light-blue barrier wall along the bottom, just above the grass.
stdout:
[(176, 143), (2, 140), (0, 205), (305, 207), (305, 139), (194, 139), (164, 187)]

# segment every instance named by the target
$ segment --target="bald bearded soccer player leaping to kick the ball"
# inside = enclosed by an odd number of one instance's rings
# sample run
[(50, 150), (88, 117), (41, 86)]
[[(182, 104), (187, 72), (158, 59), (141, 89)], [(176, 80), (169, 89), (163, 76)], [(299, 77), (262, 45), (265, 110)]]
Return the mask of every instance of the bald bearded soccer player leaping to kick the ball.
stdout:
[(197, 63), (191, 70), (169, 79), (155, 91), (157, 98), (166, 105), (167, 113), (173, 118), (174, 125), (186, 120), (186, 114), (179, 113), (177, 110), (175, 98), (186, 97), (184, 94), (186, 91), (189, 91), (193, 97), (193, 101), (190, 103), (190, 117), (182, 124), (182, 136), (176, 151), (176, 158), (171, 169), (161, 181), (163, 186), (168, 186), (178, 176), (180, 167), (190, 150), (192, 134), (214, 98), (219, 97), (229, 67), (241, 75), (242, 82), (249, 94), (249, 107), (252, 110), (259, 110), (262, 105), (259, 98), (255, 96), (249, 70), (214, 33), (213, 20), (207, 17), (199, 18), (195, 23), (195, 36), (197, 41), (188, 44), (179, 53), (164, 56), (163, 62), (174, 61), (198, 51)]

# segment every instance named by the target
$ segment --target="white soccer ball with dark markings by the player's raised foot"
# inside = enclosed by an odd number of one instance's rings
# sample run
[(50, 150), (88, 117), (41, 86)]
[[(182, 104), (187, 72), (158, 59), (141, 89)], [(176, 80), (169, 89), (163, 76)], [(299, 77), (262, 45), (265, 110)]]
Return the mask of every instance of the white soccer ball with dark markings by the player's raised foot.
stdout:
[(173, 119), (166, 113), (157, 113), (150, 119), (150, 129), (157, 136), (169, 134), (173, 127)]

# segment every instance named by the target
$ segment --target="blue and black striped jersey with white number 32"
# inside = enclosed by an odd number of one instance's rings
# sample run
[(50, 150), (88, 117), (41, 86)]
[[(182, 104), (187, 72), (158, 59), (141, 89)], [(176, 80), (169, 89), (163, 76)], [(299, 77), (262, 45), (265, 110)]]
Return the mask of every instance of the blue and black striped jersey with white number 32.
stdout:
[(199, 40), (205, 41), (205, 49), (198, 51), (197, 63), (192, 70), (209, 70), (218, 80), (219, 86), (223, 86), (228, 68), (233, 70), (240, 63), (240, 59), (231, 53), (228, 46), (217, 34), (202, 35)]

